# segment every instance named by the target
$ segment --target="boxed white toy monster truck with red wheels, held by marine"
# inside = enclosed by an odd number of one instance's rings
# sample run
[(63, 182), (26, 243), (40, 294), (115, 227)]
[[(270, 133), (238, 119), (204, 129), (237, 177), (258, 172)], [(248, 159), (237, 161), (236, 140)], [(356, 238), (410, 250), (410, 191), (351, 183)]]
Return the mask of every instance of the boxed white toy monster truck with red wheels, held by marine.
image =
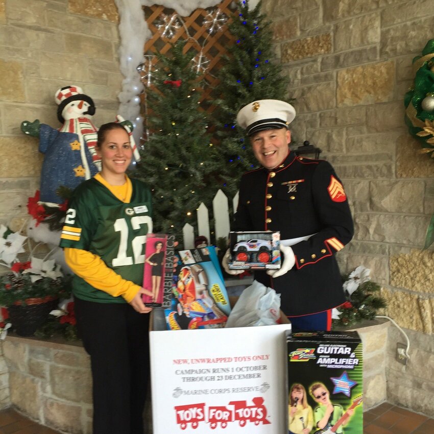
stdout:
[(280, 268), (280, 232), (229, 232), (231, 270)]

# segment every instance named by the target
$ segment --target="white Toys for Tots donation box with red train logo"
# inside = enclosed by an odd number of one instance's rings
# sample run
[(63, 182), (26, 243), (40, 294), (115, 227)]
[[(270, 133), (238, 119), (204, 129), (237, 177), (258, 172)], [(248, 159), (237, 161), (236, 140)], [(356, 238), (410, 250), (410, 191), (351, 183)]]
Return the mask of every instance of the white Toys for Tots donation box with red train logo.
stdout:
[(159, 310), (150, 332), (154, 434), (287, 432), (290, 324), (170, 331)]

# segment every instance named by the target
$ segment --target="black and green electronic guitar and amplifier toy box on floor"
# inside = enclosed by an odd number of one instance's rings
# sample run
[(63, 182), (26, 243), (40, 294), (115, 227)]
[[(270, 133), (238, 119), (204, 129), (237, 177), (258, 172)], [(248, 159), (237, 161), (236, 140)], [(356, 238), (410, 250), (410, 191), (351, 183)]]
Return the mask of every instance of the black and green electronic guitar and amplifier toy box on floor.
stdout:
[(363, 356), (357, 332), (288, 333), (287, 354), (288, 428), (363, 434)]

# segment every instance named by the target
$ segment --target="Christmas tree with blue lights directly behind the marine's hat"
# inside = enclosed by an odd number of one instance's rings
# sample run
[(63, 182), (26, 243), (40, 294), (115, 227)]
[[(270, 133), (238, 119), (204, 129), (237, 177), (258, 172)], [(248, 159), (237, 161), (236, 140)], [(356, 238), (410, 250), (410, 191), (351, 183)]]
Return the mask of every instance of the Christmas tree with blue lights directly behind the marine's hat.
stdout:
[(239, 177), (257, 165), (248, 137), (236, 124), (237, 112), (255, 100), (284, 99), (287, 87), (280, 65), (271, 61), (271, 23), (260, 8), (261, 2), (253, 10), (247, 0), (239, 2), (239, 10), (228, 25), (235, 44), (228, 47), (220, 85), (214, 92), (218, 107), (214, 112), (215, 134), (221, 158), (226, 161), (223, 176), (232, 193), (238, 188)]

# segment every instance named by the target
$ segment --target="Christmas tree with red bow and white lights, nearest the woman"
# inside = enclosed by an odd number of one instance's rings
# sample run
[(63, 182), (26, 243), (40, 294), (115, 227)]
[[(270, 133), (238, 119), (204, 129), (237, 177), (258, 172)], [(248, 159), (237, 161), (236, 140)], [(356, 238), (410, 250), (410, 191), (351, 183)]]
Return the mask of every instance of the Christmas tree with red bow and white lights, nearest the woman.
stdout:
[(184, 47), (180, 40), (170, 55), (157, 54), (158, 70), (146, 89), (151, 134), (136, 168), (136, 177), (153, 191), (154, 232), (177, 234), (178, 239), (185, 223), (197, 226), (201, 202), (211, 209), (219, 189), (215, 174), (224, 164), (199, 107), (203, 82), (192, 62), (196, 52), (183, 53)]

